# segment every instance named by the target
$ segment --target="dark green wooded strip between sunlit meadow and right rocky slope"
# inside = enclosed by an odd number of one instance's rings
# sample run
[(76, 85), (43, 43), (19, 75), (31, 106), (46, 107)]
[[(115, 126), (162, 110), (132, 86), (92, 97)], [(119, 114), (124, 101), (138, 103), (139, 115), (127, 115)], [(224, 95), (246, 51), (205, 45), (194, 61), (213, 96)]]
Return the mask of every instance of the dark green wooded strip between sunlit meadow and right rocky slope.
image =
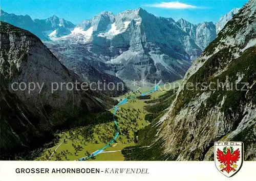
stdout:
[[(152, 123), (145, 126), (144, 128), (138, 130), (136, 135), (138, 136), (138, 142), (135, 146), (126, 147), (121, 150), (124, 160), (165, 160), (174, 159), (173, 155), (165, 154), (162, 150), (163, 139), (156, 140), (156, 135), (161, 129), (160, 125), (155, 125), (158, 122), (159, 118), (166, 113), (166, 108), (168, 108), (176, 94), (178, 88), (174, 90), (165, 91), (163, 94), (158, 96), (155, 99), (147, 100), (145, 103), (147, 105), (144, 107), (144, 110), (147, 112), (145, 115), (145, 120)], [(156, 92), (156, 95), (159, 92)], [(148, 147), (150, 146), (150, 147)]]

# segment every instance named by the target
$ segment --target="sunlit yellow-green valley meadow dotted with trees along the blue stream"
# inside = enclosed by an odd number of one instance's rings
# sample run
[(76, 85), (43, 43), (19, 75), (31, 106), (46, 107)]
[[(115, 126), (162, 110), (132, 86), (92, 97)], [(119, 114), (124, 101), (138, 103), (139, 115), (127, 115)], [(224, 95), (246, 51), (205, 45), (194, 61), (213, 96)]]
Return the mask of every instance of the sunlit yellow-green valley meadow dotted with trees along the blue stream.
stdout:
[[(152, 88), (148, 88), (146, 91), (149, 90), (152, 90)], [(119, 136), (116, 143), (113, 143), (104, 151), (116, 151), (125, 147), (135, 146), (138, 142), (135, 133), (150, 124), (148, 120), (145, 120), (145, 115), (148, 114), (144, 110), (145, 101), (154, 100), (165, 92), (164, 90), (159, 90), (150, 93), (151, 99), (139, 100), (131, 98), (128, 99), (126, 104), (120, 105), (116, 114)], [(126, 93), (116, 99), (128, 96), (137, 97), (139, 95), (141, 95), (140, 90)], [(113, 113), (114, 111), (111, 110), (111, 112)], [(77, 160), (104, 147), (113, 139), (115, 132), (116, 128), (113, 121), (63, 131), (58, 133), (59, 142), (54, 147), (45, 149), (37, 160)], [(56, 151), (54, 151), (55, 149)], [(52, 156), (50, 157), (50, 155)], [(91, 160), (124, 160), (124, 157), (121, 152), (110, 152), (98, 154)]]

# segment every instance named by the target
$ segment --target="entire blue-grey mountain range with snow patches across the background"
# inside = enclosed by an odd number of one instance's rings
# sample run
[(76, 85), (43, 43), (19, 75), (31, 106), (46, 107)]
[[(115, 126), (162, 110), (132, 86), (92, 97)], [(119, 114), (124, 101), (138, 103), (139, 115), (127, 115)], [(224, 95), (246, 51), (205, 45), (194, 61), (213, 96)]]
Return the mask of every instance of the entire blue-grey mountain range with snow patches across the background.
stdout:
[[(175, 22), (141, 8), (117, 15), (104, 11), (76, 26), (56, 16), (34, 21), (30, 18), (25, 26), (19, 23), (25, 16), (15, 18), (14, 14), (1, 13), (2, 21), (22, 26), (40, 38), (44, 36), (41, 39), (62, 63), (83, 78), (106, 77), (107, 82), (115, 83), (181, 79), (191, 62), (216, 37), (212, 22)], [(100, 76), (90, 76), (93, 73), (86, 72), (88, 66)]]

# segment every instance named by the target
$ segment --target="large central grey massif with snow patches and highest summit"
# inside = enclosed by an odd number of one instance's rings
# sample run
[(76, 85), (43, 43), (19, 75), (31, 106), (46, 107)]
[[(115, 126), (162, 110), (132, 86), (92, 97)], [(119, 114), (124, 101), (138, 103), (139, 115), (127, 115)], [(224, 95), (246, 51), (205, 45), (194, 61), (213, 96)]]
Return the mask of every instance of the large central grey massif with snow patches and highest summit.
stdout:
[[(191, 59), (202, 52), (172, 18), (156, 17), (141, 8), (116, 16), (102, 12), (49, 44), (56, 47), (49, 46), (51, 51), (68, 57), (70, 51), (83, 49), (79, 59), (123, 81), (151, 83), (180, 79)], [(70, 51), (65, 51), (67, 46)]]

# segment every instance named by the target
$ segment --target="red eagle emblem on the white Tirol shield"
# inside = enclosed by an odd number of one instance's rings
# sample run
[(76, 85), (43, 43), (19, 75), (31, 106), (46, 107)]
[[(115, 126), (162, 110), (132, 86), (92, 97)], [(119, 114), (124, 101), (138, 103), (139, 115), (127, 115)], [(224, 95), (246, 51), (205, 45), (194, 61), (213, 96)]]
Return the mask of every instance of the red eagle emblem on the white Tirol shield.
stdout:
[(224, 147), (223, 151), (221, 151), (218, 148), (217, 159), (221, 163), (220, 168), (222, 172), (235, 172), (238, 166), (236, 163), (240, 159), (240, 150), (238, 148), (236, 151), (233, 151), (233, 147)]

